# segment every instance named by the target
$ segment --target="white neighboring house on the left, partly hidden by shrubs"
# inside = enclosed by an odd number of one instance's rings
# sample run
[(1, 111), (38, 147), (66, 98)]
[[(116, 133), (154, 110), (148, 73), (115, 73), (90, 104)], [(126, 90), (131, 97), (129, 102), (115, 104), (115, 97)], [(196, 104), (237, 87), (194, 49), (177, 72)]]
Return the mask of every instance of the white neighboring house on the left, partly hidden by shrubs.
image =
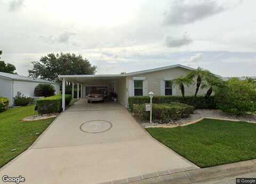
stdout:
[(0, 72), (0, 96), (9, 98), (10, 106), (13, 106), (13, 98), (18, 92), (27, 97), (34, 97), (35, 87), (38, 84), (51, 84), (54, 86), (55, 94), (60, 93), (59, 83)]

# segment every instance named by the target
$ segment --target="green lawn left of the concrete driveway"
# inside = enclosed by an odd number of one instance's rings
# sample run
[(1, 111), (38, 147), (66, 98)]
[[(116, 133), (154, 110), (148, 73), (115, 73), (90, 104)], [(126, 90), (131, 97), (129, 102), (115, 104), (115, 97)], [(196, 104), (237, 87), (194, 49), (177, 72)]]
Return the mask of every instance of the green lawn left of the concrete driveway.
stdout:
[(21, 121), (22, 118), (32, 115), (34, 106), (10, 108), (0, 113), (0, 167), (28, 149), (54, 119)]

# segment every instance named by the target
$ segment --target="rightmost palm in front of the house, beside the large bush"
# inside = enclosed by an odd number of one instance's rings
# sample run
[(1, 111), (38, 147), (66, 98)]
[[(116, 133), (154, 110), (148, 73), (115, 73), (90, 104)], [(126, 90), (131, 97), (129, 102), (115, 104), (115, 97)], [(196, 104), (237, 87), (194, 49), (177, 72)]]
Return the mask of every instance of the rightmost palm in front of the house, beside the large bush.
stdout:
[(202, 89), (209, 87), (209, 89), (207, 90), (207, 92), (205, 94), (205, 98), (209, 98), (213, 91), (227, 87), (225, 81), (223, 81), (219, 77), (212, 76), (212, 75), (206, 76), (205, 82), (206, 83), (202, 84), (202, 86), (201, 86)]

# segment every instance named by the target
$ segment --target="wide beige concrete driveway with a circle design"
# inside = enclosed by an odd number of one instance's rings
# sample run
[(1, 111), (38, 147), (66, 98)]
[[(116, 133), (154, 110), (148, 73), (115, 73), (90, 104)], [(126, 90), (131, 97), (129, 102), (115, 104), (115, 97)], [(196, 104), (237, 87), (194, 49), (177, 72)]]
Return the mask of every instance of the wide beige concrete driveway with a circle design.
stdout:
[(31, 184), (122, 183), (159, 171), (195, 168), (153, 140), (119, 103), (81, 99), (0, 175), (22, 175)]

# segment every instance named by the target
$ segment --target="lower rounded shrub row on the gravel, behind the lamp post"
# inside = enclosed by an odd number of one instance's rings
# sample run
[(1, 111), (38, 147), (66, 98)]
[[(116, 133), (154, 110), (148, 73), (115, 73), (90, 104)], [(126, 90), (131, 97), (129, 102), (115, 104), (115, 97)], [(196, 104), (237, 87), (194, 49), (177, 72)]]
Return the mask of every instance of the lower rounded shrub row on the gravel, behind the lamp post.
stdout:
[[(168, 122), (170, 119), (180, 119), (187, 117), (195, 108), (183, 103), (170, 102), (168, 104), (153, 103), (152, 105), (152, 119)], [(146, 111), (145, 104), (134, 104), (133, 114), (142, 121), (148, 121), (150, 118), (150, 111)]]

